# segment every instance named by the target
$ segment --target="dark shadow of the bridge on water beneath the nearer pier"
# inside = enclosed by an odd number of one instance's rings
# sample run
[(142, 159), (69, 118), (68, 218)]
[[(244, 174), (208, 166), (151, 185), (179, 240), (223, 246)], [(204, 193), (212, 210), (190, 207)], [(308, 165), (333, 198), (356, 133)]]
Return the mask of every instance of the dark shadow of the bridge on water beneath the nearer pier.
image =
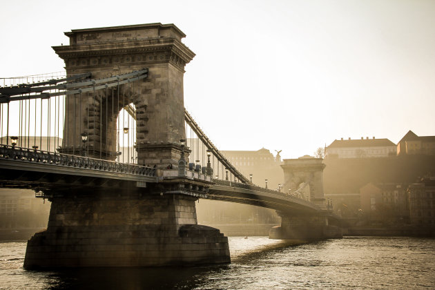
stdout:
[[(267, 255), (305, 242), (282, 240), (276, 244), (235, 253), (231, 264), (198, 267), (89, 268), (45, 273), (46, 289), (209, 289), (209, 280), (225, 279), (235, 268), (257, 264)], [(35, 272), (36, 273), (36, 272)], [(215, 281), (217, 282), (217, 281)], [(204, 288), (205, 287), (205, 288)], [(213, 288), (215, 289), (215, 288)]]

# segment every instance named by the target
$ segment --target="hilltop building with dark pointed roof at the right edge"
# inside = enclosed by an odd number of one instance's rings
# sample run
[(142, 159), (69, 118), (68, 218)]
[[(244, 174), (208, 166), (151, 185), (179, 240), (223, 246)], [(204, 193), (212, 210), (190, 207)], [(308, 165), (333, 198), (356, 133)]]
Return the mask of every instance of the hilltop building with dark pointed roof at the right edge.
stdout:
[(397, 144), (397, 155), (435, 155), (435, 136), (417, 136), (411, 130)]

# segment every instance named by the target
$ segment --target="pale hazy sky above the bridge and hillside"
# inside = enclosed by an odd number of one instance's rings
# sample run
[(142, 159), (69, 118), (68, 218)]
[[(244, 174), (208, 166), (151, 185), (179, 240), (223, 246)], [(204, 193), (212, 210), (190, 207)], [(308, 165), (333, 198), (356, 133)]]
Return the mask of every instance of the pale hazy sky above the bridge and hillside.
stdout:
[(71, 29), (174, 23), (184, 103), (221, 150), (435, 135), (435, 1), (4, 1), (0, 77), (63, 69)]

